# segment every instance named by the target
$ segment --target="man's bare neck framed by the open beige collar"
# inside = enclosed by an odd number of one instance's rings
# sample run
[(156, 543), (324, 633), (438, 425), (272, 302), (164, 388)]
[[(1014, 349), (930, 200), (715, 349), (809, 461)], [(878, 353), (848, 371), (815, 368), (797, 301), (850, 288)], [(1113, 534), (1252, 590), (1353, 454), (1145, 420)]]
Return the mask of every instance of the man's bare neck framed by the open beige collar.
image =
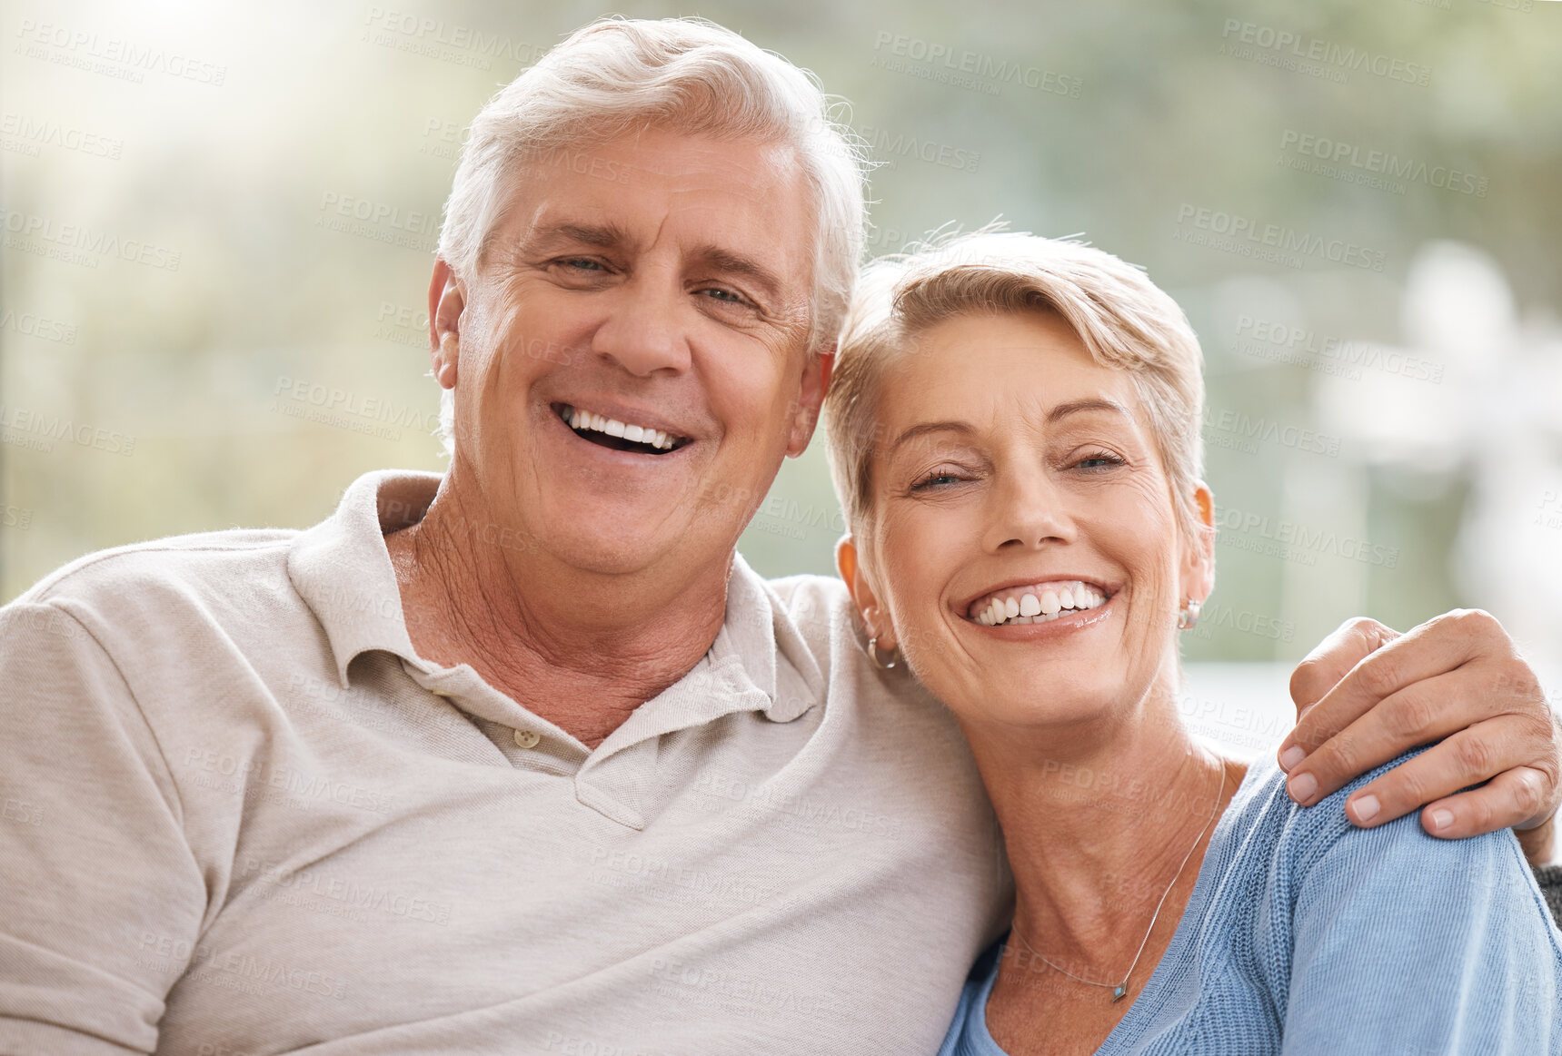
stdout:
[(422, 521), (386, 537), (423, 660), (470, 664), (595, 749), (715, 641), (731, 555), (679, 583), (654, 571), (581, 572), (506, 529), (472, 530), (497, 523), (480, 499), (442, 487)]

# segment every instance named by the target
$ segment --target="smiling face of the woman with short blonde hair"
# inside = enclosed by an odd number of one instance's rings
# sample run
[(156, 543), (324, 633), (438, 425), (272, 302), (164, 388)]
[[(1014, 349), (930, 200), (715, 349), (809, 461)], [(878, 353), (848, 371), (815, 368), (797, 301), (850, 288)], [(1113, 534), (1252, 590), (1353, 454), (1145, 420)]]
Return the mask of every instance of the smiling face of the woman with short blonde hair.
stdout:
[(879, 413), (858, 602), (956, 716), (1073, 722), (1175, 689), (1211, 565), (1131, 374), (1054, 314), (964, 315), (897, 360)]

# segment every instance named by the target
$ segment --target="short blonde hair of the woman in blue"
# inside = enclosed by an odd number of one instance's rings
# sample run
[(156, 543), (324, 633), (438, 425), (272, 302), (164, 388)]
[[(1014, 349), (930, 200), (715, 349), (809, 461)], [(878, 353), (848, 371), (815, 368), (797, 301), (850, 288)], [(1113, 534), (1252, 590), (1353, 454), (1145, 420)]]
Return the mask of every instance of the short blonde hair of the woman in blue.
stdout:
[[(961, 315), (1054, 312), (1103, 367), (1126, 370), (1150, 416), (1187, 538), (1201, 518), (1204, 357), (1182, 309), (1143, 270), (1067, 239), (975, 231), (867, 265), (847, 310), (825, 399), (829, 471), (847, 530), (872, 537), (884, 377), (920, 334)], [(993, 379), (1003, 384), (1003, 379)]]

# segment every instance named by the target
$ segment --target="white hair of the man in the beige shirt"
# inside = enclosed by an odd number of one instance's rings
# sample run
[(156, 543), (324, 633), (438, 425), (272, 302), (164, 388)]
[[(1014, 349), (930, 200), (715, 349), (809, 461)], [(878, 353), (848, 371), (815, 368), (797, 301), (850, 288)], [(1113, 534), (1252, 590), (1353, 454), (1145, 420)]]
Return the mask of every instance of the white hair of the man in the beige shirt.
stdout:
[[(828, 349), (856, 281), (867, 223), (865, 153), (812, 73), (704, 19), (606, 17), (576, 30), (505, 86), (473, 119), (461, 151), (439, 256), (462, 278), (484, 262), (505, 218), (509, 176), (561, 148), (647, 126), (793, 148), (812, 195), (809, 351)], [(439, 427), (455, 454), (455, 398)]]

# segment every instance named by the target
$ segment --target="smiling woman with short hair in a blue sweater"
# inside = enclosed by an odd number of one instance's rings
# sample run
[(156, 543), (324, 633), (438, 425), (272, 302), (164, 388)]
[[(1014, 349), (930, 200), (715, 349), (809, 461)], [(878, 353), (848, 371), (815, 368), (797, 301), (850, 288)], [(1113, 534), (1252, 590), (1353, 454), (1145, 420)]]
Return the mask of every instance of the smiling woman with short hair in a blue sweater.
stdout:
[(1072, 242), (947, 240), (853, 306), (839, 569), (870, 654), (970, 741), (1017, 889), (942, 1051), (1562, 1051), (1512, 833), (1354, 828), (1368, 778), (1301, 808), (1179, 722), (1214, 586), (1200, 368), (1165, 293)]

